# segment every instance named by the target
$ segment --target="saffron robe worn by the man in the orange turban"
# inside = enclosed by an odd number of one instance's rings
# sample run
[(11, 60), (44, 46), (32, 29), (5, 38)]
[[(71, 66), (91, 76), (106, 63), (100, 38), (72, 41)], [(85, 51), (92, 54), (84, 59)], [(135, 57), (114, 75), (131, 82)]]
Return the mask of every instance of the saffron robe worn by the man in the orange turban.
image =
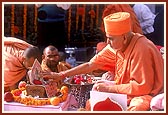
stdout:
[[(138, 105), (139, 102), (134, 101), (138, 97), (137, 100), (147, 102), (143, 109), (149, 109), (152, 96), (163, 91), (164, 63), (157, 47), (136, 33), (124, 52), (114, 52), (108, 45), (100, 53), (90, 61), (102, 69), (110, 70), (110, 64), (111, 70), (115, 68), (113, 91), (127, 94), (128, 105)], [(130, 103), (133, 98), (134, 104)]]

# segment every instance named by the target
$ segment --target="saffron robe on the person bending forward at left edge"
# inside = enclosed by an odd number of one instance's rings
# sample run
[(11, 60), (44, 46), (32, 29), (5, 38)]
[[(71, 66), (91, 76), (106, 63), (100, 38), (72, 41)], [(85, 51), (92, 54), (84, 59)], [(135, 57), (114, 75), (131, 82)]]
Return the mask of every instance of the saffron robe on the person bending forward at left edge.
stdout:
[(23, 53), (31, 44), (17, 38), (4, 37), (4, 87), (7, 89), (16, 85), (27, 73), (23, 66)]

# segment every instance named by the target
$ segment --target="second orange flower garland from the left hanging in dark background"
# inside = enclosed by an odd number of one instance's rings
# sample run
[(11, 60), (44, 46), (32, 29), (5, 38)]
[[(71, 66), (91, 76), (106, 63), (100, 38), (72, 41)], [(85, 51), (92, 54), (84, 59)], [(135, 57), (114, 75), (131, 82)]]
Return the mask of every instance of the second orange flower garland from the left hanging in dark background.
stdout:
[(27, 5), (24, 5), (23, 10), (23, 39), (26, 41), (26, 21), (27, 21)]

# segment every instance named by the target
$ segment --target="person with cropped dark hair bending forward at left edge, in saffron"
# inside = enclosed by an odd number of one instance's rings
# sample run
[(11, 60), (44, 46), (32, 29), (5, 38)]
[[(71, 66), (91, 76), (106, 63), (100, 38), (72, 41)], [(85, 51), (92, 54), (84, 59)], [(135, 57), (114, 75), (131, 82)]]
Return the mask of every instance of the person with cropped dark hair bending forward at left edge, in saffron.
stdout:
[(41, 60), (39, 49), (31, 44), (12, 37), (4, 37), (4, 91), (16, 89), (27, 70), (37, 58)]

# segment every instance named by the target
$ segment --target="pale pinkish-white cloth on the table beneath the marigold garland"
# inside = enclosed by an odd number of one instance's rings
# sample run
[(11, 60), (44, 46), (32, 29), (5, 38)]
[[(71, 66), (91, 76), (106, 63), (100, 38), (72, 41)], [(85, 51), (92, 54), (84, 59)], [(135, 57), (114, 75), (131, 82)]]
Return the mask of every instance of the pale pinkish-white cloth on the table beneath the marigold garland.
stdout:
[(8, 113), (12, 111), (17, 112), (50, 112), (50, 111), (67, 111), (70, 107), (77, 107), (78, 103), (75, 100), (73, 95), (68, 95), (68, 98), (65, 102), (60, 103), (58, 106), (53, 105), (44, 105), (44, 106), (27, 106), (17, 102), (4, 102), (3, 103), (3, 112)]

